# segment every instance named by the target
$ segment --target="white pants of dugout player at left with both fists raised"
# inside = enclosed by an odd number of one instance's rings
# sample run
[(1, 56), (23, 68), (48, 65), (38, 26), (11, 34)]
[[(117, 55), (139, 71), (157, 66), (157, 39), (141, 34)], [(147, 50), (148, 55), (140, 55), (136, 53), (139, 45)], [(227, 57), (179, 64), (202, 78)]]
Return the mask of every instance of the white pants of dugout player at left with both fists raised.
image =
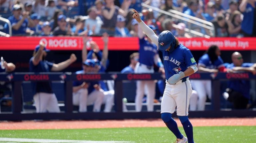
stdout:
[(54, 93), (45, 93), (38, 92), (33, 97), (36, 112), (45, 113), (45, 112), (61, 112), (60, 107), (58, 106), (58, 100)]

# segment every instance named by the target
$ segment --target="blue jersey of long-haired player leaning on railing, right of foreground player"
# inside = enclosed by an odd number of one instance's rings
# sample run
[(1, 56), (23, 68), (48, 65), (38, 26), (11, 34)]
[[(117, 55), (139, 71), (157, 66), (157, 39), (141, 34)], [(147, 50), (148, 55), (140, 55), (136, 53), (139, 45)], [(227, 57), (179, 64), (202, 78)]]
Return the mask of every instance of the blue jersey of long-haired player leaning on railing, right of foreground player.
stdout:
[(208, 54), (202, 55), (198, 60), (198, 66), (202, 66), (208, 69), (218, 69), (223, 65), (223, 60), (220, 56), (218, 56), (218, 59), (214, 61), (214, 63), (211, 62), (210, 57)]

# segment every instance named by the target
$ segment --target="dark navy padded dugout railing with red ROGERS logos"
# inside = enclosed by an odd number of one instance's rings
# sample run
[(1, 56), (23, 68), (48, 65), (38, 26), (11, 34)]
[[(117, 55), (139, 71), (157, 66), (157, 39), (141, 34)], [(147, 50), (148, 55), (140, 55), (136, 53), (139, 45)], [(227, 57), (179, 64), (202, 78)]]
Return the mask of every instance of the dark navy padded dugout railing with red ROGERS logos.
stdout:
[[(256, 116), (253, 110), (220, 110), (220, 80), (251, 80), (256, 75), (251, 73), (195, 73), (190, 79), (212, 80), (212, 110), (211, 111), (190, 111), (190, 117), (246, 117)], [(73, 81), (115, 81), (114, 111), (111, 113), (74, 113), (72, 105), (72, 82)], [(0, 73), (0, 81), (9, 81), (14, 85), (12, 96), (12, 114), (0, 114), (0, 120), (34, 120), (34, 119), (124, 119), (124, 118), (160, 118), (160, 112), (123, 112), (123, 80), (163, 80), (160, 73), (155, 74), (74, 74), (74, 73)], [(64, 113), (25, 113), (22, 112), (22, 89), (23, 81), (65, 81), (65, 111)], [(174, 115), (175, 116), (175, 115)]]

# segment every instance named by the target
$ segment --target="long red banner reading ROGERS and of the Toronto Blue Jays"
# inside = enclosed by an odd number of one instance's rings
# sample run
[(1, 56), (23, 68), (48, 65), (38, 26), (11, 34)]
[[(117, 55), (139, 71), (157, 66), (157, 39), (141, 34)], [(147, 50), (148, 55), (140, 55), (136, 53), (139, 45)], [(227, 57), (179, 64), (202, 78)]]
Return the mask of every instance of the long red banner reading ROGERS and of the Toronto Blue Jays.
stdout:
[[(100, 49), (103, 49), (101, 37), (92, 37)], [(82, 50), (82, 37), (0, 37), (0, 50), (34, 50), (43, 41), (50, 50)], [(179, 38), (180, 43), (190, 50), (207, 50), (210, 45), (217, 45), (221, 50), (256, 50), (256, 38)], [(136, 37), (109, 37), (109, 50), (138, 50), (139, 40)]]

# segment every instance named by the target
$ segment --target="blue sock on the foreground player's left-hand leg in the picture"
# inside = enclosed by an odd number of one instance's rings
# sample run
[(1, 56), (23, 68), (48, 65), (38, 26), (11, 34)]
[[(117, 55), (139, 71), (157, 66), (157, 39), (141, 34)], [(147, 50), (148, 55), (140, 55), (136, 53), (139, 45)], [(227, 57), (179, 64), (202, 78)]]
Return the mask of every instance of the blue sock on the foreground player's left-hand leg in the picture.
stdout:
[(171, 113), (162, 113), (161, 115), (162, 120), (165, 122), (165, 125), (173, 132), (173, 134), (179, 138), (182, 139), (183, 135), (181, 134), (177, 123), (175, 120), (172, 118)]

